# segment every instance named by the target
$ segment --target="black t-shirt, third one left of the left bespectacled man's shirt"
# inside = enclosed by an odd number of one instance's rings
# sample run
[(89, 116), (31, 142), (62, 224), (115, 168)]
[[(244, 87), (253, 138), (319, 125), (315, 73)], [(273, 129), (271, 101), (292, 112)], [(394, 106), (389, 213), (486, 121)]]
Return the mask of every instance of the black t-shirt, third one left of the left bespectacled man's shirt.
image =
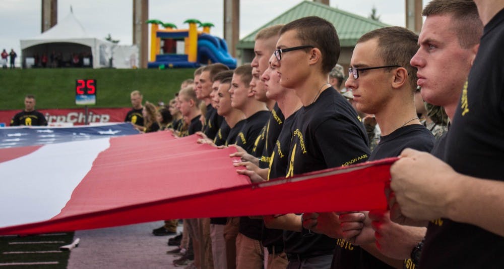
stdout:
[[(266, 125), (270, 116), (269, 111), (259, 111), (256, 114), (245, 119), (245, 125), (236, 137), (236, 145), (245, 149), (249, 154), (253, 154), (254, 142), (260, 135), (261, 129)], [(263, 230), (263, 220), (240, 217), (238, 231), (251, 239), (261, 240)]]

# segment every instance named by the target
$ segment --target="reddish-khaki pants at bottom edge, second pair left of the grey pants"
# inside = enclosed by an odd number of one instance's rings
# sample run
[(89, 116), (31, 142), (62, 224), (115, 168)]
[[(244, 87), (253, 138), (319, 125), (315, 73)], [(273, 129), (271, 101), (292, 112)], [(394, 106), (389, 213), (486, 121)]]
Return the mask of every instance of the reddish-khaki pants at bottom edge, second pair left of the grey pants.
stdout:
[(263, 269), (264, 247), (261, 241), (240, 233), (236, 237), (236, 268)]

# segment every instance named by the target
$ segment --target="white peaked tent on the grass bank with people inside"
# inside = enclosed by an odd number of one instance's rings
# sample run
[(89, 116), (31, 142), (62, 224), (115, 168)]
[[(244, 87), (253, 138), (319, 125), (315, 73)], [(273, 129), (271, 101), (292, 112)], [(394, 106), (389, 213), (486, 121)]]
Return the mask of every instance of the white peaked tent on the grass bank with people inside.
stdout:
[[(55, 58), (49, 59), (48, 62), (51, 62), (51, 60), (56, 62), (56, 59), (59, 58), (58, 64), (61, 67), (109, 67), (109, 59), (115, 58), (112, 53), (114, 48), (124, 47), (89, 36), (72, 12), (39, 36), (21, 40), (20, 42), (22, 50), (21, 64), (23, 67), (30, 67), (35, 57), (39, 59), (38, 66), (40, 66), (41, 57), (44, 54), (47, 58)], [(138, 57), (138, 48), (135, 49), (136, 46), (129, 47), (131, 47), (132, 57)], [(57, 57), (59, 54), (60, 56)], [(73, 56), (80, 60), (79, 63), (73, 62)]]

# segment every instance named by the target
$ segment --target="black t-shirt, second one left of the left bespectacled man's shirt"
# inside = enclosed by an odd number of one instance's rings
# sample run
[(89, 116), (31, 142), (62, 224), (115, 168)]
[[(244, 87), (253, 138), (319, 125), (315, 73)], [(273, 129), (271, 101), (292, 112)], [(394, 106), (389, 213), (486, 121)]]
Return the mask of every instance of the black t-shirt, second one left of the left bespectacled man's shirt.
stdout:
[[(256, 142), (258, 147), (260, 144), (263, 145), (261, 152), (255, 152), (254, 156), (259, 158), (259, 167), (268, 168), (270, 166), (270, 156), (273, 153), (273, 148), (278, 139), (280, 131), (282, 131), (282, 125), (285, 121), (282, 111), (278, 104), (275, 103), (273, 110), (271, 110), (270, 119), (263, 129), (263, 133), (258, 137), (261, 141)], [(261, 154), (259, 154), (261, 153)]]

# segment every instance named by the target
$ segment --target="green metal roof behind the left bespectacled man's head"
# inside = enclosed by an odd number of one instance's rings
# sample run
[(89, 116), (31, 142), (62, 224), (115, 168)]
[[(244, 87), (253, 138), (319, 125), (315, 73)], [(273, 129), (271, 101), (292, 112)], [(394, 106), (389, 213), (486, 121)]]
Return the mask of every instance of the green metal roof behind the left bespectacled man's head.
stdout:
[(333, 23), (336, 31), (338, 32), (340, 45), (342, 47), (355, 46), (357, 40), (363, 34), (374, 29), (390, 26), (388, 24), (364, 18), (346, 11), (331, 8), (324, 4), (303, 1), (242, 38), (238, 42), (236, 48), (254, 48), (254, 37), (259, 30), (268, 26), (286, 24), (293, 20), (307, 16), (319, 16)]

